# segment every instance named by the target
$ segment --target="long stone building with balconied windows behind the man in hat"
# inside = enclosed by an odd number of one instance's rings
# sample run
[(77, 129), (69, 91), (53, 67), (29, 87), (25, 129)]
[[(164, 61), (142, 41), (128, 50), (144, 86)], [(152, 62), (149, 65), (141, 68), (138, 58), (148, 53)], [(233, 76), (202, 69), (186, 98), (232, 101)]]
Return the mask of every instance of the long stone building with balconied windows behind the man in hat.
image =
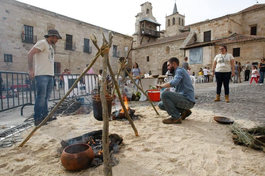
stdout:
[[(2, 71), (28, 72), (27, 53), (38, 40), (45, 39), (43, 35), (50, 28), (57, 29), (62, 36), (55, 45), (55, 73), (62, 73), (64, 67), (69, 67), (73, 74), (82, 73), (86, 63), (91, 62), (97, 53), (90, 35), (95, 34), (98, 45), (101, 45), (102, 34), (99, 26), (29, 4), (15, 0), (0, 0), (0, 14), (0, 70)], [(109, 30), (102, 28), (102, 31), (107, 37)], [(116, 71), (117, 57), (127, 56), (133, 38), (112, 32), (114, 36), (113, 46), (110, 49), (110, 63), (112, 70)], [(131, 58), (131, 55), (129, 57)], [(102, 58), (100, 60), (99, 58), (92, 67), (96, 74), (102, 67)], [(132, 60), (129, 60), (128, 65), (131, 65), (131, 62)]]

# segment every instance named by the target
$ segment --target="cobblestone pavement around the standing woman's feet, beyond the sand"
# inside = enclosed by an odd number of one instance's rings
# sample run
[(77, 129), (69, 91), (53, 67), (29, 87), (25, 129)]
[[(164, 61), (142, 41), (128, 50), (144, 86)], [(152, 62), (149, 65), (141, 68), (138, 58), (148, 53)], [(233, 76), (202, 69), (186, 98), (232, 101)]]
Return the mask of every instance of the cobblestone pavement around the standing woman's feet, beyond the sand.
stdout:
[[(220, 96), (221, 101), (214, 102), (213, 99), (216, 97), (216, 83), (196, 84), (196, 95), (198, 99), (196, 99), (194, 108), (211, 110), (216, 112), (216, 115), (233, 119), (258, 121), (263, 123), (262, 126), (265, 126), (265, 86), (255, 86), (253, 83), (251, 85), (247, 85), (246, 83), (230, 83), (230, 85), (230, 103), (226, 103), (223, 87)], [(211, 91), (206, 90), (209, 87), (212, 88)]]

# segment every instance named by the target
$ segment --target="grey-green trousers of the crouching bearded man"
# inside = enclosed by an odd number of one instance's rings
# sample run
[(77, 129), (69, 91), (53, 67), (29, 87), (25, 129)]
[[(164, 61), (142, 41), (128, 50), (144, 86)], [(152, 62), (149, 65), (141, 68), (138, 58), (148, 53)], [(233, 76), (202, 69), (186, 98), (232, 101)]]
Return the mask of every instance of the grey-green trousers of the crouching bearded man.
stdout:
[(168, 115), (172, 116), (172, 119), (179, 119), (180, 113), (194, 106), (192, 101), (177, 92), (162, 91), (160, 98), (162, 101), (158, 103), (159, 109), (167, 111)]

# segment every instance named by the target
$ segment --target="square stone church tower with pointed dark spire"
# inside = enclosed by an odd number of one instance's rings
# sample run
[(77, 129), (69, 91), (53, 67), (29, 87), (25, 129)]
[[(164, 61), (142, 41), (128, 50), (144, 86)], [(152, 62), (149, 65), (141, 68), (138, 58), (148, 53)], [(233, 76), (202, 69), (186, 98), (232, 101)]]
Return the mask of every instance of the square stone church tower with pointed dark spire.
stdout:
[(172, 15), (166, 16), (165, 19), (165, 31), (169, 36), (182, 33), (179, 30), (184, 29), (185, 16), (178, 13), (176, 2)]

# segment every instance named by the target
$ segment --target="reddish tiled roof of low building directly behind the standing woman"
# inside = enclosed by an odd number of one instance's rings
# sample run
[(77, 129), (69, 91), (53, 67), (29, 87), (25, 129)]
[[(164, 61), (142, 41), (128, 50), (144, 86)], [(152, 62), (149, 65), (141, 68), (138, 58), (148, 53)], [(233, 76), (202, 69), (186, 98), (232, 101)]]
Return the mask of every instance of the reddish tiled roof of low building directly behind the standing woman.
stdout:
[(265, 39), (265, 36), (242, 35), (242, 34), (235, 33), (235, 34), (229, 36), (228, 38), (224, 38), (220, 42), (216, 43), (216, 45), (223, 45), (223, 44), (229, 44), (229, 43), (238, 43), (238, 42), (245, 42), (245, 41), (259, 40), (259, 39)]

